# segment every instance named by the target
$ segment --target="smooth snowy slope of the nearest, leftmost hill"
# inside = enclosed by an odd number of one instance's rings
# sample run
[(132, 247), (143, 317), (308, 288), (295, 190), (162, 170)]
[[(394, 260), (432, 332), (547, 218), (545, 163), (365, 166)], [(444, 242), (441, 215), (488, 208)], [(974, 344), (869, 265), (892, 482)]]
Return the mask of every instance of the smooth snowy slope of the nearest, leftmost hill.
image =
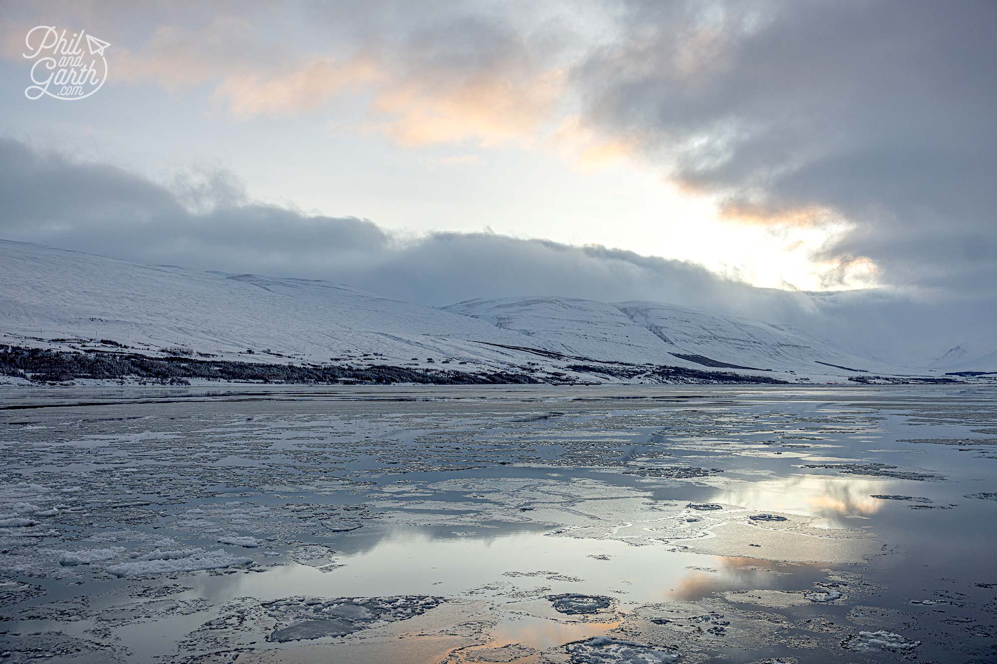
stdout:
[(21, 242), (0, 241), (0, 283), (7, 343), (109, 339), (253, 361), (279, 357), (269, 350), (314, 362), (374, 352), (438, 362), (496, 355), (475, 341), (522, 341), (483, 321), (342, 284), (141, 265)]

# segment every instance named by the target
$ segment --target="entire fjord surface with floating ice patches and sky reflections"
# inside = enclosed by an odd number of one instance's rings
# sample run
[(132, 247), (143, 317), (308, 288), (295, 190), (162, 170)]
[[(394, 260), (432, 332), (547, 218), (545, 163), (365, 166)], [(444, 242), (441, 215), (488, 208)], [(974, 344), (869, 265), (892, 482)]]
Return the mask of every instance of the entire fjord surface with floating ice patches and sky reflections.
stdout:
[(0, 391), (0, 662), (997, 661), (997, 390)]

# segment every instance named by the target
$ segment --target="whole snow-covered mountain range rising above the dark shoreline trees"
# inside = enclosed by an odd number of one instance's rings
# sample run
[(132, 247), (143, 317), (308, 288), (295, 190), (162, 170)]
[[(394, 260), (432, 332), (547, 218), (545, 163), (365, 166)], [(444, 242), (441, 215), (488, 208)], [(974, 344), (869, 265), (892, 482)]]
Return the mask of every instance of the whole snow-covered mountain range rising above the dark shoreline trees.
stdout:
[(541, 379), (593, 363), (603, 369), (581, 370), (586, 380), (622, 380), (605, 368), (624, 364), (632, 381), (643, 380), (633, 365), (822, 382), (926, 373), (799, 330), (655, 302), (519, 297), (435, 309), (327, 281), (142, 265), (3, 240), (0, 342), (253, 362), (448, 364)]

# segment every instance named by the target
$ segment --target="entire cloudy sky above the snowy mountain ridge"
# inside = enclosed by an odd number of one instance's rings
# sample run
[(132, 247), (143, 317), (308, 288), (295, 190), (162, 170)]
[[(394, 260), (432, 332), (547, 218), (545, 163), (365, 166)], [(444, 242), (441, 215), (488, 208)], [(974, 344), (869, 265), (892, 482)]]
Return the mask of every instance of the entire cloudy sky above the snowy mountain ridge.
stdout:
[[(36, 26), (105, 85), (28, 99)], [(983, 354), (995, 41), (973, 1), (8, 0), (0, 237)]]

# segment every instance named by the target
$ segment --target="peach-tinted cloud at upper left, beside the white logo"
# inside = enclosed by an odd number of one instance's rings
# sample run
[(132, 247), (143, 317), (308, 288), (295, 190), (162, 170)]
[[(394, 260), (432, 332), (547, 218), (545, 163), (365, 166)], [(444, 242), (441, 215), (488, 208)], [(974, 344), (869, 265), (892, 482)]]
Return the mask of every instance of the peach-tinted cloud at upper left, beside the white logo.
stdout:
[[(20, 20), (4, 23), (13, 35), (32, 21), (58, 19), (113, 39), (112, 85), (207, 89), (240, 118), (320, 111), (349, 89), (364, 100), (363, 128), (408, 148), (529, 143), (564, 93), (554, 27), (514, 25), (484, 5), (253, 4), (247, 11), (220, 3), (210, 12), (152, 7), (151, 16), (115, 3), (18, 9)], [(23, 37), (7, 42), (0, 52), (18, 59)]]

